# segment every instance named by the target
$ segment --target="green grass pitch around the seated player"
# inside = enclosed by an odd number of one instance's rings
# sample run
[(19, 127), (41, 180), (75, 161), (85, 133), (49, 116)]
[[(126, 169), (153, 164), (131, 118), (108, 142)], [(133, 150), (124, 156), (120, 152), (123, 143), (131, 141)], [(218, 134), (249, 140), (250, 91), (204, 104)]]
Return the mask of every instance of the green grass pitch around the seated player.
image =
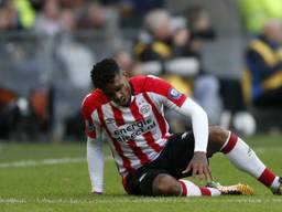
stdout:
[[(282, 174), (282, 137), (248, 138), (258, 156)], [(116, 166), (105, 148), (105, 194), (89, 194), (85, 144), (0, 144), (0, 211), (281, 211), (282, 198), (246, 173), (236, 170), (221, 155), (210, 160), (215, 179), (223, 184), (249, 183), (252, 197), (140, 198), (124, 193)], [(52, 159), (52, 160), (51, 160)], [(55, 159), (55, 160), (54, 160)]]

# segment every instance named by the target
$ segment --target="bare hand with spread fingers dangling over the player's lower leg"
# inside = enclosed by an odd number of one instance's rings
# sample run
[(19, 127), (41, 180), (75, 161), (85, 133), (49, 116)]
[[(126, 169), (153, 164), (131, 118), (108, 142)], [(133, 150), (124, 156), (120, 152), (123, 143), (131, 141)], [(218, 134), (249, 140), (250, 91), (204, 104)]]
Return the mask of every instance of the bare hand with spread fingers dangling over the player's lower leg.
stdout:
[(212, 178), (212, 172), (208, 167), (206, 152), (195, 151), (192, 160), (189, 161), (187, 168), (182, 173), (187, 173), (192, 170), (192, 177), (198, 176), (199, 181), (204, 178), (209, 182)]

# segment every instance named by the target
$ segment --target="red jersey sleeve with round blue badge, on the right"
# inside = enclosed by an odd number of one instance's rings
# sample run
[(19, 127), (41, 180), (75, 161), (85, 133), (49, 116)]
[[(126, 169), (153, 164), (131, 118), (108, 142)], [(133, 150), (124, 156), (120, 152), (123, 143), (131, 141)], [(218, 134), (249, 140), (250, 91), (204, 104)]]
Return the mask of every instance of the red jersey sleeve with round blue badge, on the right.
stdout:
[(181, 107), (187, 96), (178, 92), (169, 82), (156, 76), (148, 76), (147, 91), (162, 96), (162, 102), (167, 107)]

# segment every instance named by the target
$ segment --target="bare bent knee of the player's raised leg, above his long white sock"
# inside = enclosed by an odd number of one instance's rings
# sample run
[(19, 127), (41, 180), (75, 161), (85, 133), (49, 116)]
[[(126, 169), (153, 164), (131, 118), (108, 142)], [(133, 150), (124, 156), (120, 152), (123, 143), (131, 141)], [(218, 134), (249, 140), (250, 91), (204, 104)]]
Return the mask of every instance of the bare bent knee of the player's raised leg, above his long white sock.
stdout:
[(225, 144), (227, 137), (228, 137), (228, 131), (226, 129), (223, 129), (221, 127), (218, 127), (218, 126), (209, 127), (208, 150), (210, 151), (210, 153), (215, 153), (219, 151), (223, 145)]

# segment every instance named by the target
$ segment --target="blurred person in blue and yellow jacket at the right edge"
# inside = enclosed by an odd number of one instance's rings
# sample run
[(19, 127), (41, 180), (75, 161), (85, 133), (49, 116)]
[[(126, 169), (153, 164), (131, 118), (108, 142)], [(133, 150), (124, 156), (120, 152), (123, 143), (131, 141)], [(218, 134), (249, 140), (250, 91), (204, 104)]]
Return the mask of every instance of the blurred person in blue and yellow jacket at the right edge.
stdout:
[(250, 100), (257, 107), (282, 106), (282, 22), (269, 21), (263, 33), (251, 41), (246, 62)]

